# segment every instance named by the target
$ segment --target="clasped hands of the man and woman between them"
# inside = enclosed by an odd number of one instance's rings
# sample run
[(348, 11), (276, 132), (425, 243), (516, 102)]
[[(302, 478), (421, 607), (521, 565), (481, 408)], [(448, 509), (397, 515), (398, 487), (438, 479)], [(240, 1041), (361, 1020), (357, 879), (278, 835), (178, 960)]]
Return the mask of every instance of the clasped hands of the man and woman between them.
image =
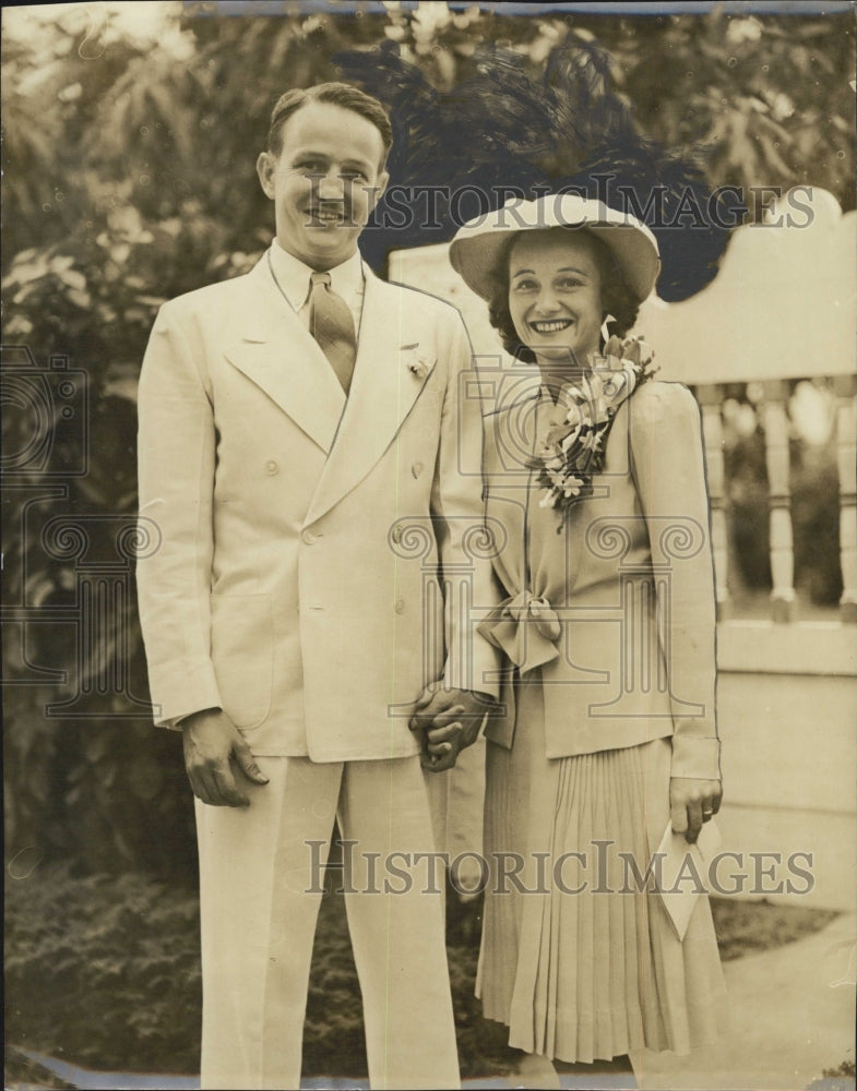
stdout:
[(424, 734), (422, 768), (451, 769), (459, 753), (478, 739), (493, 704), (493, 697), (475, 690), (443, 690), (438, 682), (426, 686), (408, 722)]

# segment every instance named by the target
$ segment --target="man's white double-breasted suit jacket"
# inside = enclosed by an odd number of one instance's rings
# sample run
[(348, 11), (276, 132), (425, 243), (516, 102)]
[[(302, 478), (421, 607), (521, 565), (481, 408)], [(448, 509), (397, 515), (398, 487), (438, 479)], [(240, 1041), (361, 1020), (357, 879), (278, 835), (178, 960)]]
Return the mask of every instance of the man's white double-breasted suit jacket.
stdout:
[(364, 272), (347, 400), (264, 259), (160, 309), (138, 562), (158, 723), (221, 707), (257, 755), (392, 758), (418, 752), (407, 719), (427, 682), (496, 693), (469, 609), (497, 592), (469, 544), (467, 334), (448, 303)]

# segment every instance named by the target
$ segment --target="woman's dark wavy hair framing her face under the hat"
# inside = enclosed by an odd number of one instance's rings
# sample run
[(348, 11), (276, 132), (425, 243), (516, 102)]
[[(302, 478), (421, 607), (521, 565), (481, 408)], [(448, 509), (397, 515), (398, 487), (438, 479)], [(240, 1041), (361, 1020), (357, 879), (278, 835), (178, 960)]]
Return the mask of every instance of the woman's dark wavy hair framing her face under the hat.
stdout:
[[(636, 322), (640, 304), (624, 283), (610, 248), (597, 235), (585, 228), (583, 231), (587, 243), (592, 245), (592, 252), (600, 274), (602, 310), (604, 314), (611, 314), (615, 319), (608, 323), (609, 331), (611, 334), (624, 337)], [(534, 363), (536, 355), (533, 349), (521, 344), (509, 310), (509, 262), (512, 256), (512, 248), (523, 233), (525, 232), (515, 231), (511, 235), (500, 252), (495, 269), (495, 288), (488, 301), (488, 317), (491, 325), (500, 334), (500, 340), (507, 352), (526, 363)], [(579, 235), (575, 236), (575, 238), (579, 237)]]

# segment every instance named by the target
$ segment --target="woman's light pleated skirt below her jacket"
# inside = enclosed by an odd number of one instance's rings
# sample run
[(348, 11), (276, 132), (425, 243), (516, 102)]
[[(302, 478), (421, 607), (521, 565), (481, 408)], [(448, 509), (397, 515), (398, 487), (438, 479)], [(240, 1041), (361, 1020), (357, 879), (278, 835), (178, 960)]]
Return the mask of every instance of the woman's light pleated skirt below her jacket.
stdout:
[(670, 740), (549, 759), (541, 686), (516, 696), (512, 750), (488, 744), (486, 1017), (511, 1046), (570, 1063), (716, 1041), (726, 994), (707, 897), (679, 940), (629, 864), (645, 876), (669, 820)]

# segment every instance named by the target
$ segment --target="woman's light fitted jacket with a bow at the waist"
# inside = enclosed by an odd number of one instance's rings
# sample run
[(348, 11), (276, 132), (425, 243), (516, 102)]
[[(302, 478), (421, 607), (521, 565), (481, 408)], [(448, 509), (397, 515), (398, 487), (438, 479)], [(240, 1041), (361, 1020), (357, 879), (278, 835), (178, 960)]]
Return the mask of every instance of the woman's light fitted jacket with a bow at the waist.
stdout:
[[(532, 537), (527, 558), (525, 400), (515, 393), (487, 416), (487, 518), (508, 598), (483, 631), (524, 681), (541, 668), (548, 757), (671, 735), (674, 776), (718, 777), (714, 568), (693, 396), (650, 382), (619, 407), (594, 495), (572, 508), (551, 547), (561, 562), (547, 567), (532, 563)], [(556, 535), (557, 513), (539, 514), (550, 516), (541, 532)], [(486, 733), (511, 746), (511, 686), (502, 696), (509, 715)]]

